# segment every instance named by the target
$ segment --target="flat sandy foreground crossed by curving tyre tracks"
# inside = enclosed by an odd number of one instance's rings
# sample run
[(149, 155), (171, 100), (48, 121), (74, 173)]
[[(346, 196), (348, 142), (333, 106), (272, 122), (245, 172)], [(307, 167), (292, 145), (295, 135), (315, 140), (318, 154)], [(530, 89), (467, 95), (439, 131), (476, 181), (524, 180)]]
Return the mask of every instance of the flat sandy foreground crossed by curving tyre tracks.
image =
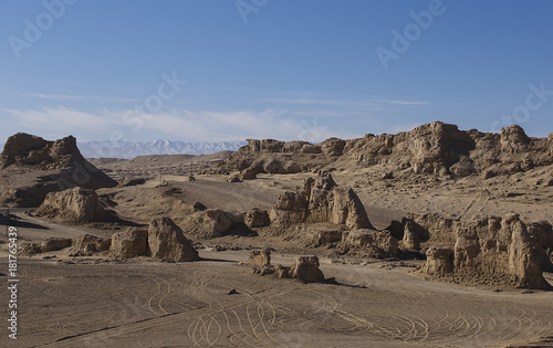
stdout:
[[(19, 226), (22, 240), (108, 233), (20, 221), (27, 222), (48, 229)], [(19, 339), (14, 345), (4, 333), (1, 346), (505, 347), (553, 341), (547, 292), (483, 291), (425, 280), (399, 262), (352, 265), (326, 259), (321, 270), (338, 284), (302, 284), (249, 274), (241, 264), (248, 254), (204, 249), (205, 260), (194, 263), (73, 259), (65, 251), (20, 257)], [(6, 251), (1, 260), (7, 268)], [(292, 264), (293, 255), (273, 253), (272, 262)], [(228, 295), (232, 288), (238, 294)], [(7, 304), (6, 282), (0, 294)]]

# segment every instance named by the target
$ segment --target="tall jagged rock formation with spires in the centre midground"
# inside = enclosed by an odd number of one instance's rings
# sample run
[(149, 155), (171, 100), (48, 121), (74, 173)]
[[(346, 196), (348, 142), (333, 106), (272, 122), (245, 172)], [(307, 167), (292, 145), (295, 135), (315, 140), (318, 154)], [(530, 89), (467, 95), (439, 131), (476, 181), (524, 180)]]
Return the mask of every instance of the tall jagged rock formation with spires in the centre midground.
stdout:
[(307, 179), (299, 192), (285, 192), (270, 211), (271, 224), (289, 228), (301, 222), (330, 222), (349, 229), (371, 229), (367, 213), (352, 188), (338, 187), (332, 176)]

